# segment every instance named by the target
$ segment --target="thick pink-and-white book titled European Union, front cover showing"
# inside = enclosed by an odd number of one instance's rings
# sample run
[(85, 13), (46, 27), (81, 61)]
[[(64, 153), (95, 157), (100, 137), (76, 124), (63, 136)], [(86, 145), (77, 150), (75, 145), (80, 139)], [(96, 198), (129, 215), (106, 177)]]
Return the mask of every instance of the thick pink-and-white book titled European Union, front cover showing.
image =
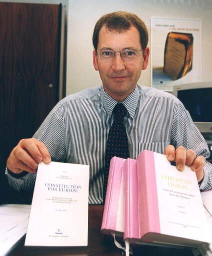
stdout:
[(148, 150), (136, 165), (141, 240), (194, 247), (209, 241), (196, 173)]

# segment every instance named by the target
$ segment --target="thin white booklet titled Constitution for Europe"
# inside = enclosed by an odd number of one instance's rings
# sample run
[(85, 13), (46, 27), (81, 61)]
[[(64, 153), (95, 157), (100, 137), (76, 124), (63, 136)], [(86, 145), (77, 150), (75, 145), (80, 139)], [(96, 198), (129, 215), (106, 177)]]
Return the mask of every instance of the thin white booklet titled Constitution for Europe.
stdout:
[(89, 166), (39, 163), (25, 246), (86, 246)]

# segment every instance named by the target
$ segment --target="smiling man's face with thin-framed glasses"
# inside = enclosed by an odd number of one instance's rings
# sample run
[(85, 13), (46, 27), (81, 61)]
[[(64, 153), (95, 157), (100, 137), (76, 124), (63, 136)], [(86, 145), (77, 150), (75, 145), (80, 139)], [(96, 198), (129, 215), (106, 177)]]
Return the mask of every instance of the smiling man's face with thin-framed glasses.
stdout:
[[(97, 52), (103, 49), (122, 52), (129, 48), (142, 49), (139, 32), (134, 26), (123, 33), (109, 31), (105, 26), (101, 28)], [(140, 52), (138, 58), (130, 62), (124, 62), (120, 53), (116, 53), (111, 62), (101, 62), (93, 51), (94, 68), (99, 71), (103, 88), (116, 101), (123, 101), (135, 89), (141, 71), (147, 68), (148, 60), (148, 47), (144, 56)]]

